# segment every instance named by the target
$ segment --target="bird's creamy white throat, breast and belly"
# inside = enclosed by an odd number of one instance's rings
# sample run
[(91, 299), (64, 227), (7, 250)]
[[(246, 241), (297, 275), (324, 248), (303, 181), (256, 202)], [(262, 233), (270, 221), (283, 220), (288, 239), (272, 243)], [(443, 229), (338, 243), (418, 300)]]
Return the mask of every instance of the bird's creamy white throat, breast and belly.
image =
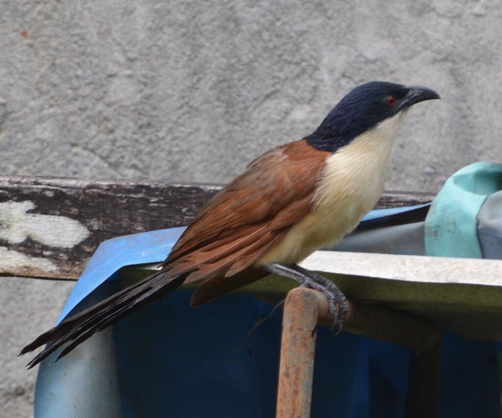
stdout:
[(256, 265), (300, 262), (357, 226), (384, 190), (392, 143), (405, 114), (384, 120), (327, 158), (312, 212), (294, 224)]

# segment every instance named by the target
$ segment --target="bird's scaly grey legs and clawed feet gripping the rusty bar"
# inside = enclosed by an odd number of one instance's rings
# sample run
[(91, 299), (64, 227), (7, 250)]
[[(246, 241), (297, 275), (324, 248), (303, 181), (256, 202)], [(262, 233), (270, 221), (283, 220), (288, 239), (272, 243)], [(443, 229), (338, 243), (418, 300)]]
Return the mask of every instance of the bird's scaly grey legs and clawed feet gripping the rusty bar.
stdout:
[[(322, 292), (329, 302), (329, 313), (334, 316), (335, 321), (333, 328), (338, 327), (338, 332), (343, 327), (343, 320), (348, 310), (347, 300), (345, 295), (338, 289), (333, 282), (326, 277), (316, 273), (315, 271), (307, 270), (300, 267), (298, 264), (291, 264), (288, 266), (279, 263), (269, 263), (262, 266), (269, 273), (274, 273), (282, 277), (291, 278), (299, 283), (301, 287), (314, 289)], [(340, 313), (336, 309), (336, 305), (340, 308)]]

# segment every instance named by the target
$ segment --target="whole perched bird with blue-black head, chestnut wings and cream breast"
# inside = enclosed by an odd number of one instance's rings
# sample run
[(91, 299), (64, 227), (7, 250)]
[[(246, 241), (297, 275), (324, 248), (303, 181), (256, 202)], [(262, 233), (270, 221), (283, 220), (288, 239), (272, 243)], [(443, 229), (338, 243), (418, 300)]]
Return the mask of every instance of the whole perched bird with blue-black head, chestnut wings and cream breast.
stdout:
[[(378, 202), (398, 127), (434, 90), (385, 81), (353, 88), (313, 133), (251, 162), (198, 212), (159, 270), (70, 316), (20, 353), (48, 344), (31, 368), (63, 347), (57, 360), (95, 332), (183, 283), (202, 281), (198, 306), (279, 274), (323, 292), (341, 329), (347, 303), (337, 286), (298, 265), (352, 231)], [(338, 308), (338, 309), (337, 309)]]

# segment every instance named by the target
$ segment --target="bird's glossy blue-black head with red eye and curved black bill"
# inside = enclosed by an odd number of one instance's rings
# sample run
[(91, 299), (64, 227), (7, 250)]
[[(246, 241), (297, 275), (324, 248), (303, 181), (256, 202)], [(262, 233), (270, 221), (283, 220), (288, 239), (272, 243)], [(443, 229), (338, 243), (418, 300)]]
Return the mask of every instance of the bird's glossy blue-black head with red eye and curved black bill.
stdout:
[(361, 84), (331, 110), (307, 142), (320, 151), (335, 152), (354, 138), (410, 106), (439, 99), (434, 90), (384, 81)]

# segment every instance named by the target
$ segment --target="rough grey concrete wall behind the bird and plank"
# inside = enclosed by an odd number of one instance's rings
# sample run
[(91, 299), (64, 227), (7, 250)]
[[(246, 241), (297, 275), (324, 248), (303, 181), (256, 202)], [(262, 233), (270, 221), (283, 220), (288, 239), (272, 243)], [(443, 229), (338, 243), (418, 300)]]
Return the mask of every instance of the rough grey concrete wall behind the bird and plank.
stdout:
[[(0, 174), (224, 183), (313, 131), (355, 85), (423, 84), (388, 189), (501, 161), (495, 0), (0, 0)], [(67, 283), (0, 277), (0, 416), (31, 416), (15, 354)]]

